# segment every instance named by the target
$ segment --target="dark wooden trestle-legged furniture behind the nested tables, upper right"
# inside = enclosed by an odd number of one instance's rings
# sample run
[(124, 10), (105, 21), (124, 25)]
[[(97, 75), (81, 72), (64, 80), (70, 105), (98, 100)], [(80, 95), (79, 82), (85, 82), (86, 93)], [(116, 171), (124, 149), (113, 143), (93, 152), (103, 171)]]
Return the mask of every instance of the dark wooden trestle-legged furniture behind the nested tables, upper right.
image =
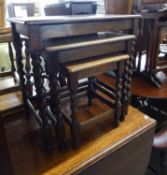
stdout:
[(166, 54), (162, 57), (160, 53), (161, 36), (167, 29), (167, 9), (159, 9), (161, 4), (167, 3), (166, 0), (144, 0), (136, 2), (134, 12), (141, 13), (143, 16), (143, 34), (139, 53), (138, 72), (141, 71), (142, 51), (146, 50), (146, 65), (144, 74), (155, 83), (157, 87), (161, 82), (157, 78), (157, 73), (166, 70)]

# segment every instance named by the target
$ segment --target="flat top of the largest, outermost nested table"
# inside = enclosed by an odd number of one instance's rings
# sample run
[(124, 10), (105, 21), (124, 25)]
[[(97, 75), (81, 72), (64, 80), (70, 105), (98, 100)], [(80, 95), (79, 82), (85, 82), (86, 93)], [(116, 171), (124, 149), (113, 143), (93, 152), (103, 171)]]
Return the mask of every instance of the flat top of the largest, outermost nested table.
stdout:
[(73, 15), (73, 16), (40, 16), (40, 17), (26, 17), (26, 18), (10, 18), (8, 21), (20, 24), (60, 24), (71, 22), (86, 22), (99, 20), (121, 20), (141, 18), (141, 15)]

